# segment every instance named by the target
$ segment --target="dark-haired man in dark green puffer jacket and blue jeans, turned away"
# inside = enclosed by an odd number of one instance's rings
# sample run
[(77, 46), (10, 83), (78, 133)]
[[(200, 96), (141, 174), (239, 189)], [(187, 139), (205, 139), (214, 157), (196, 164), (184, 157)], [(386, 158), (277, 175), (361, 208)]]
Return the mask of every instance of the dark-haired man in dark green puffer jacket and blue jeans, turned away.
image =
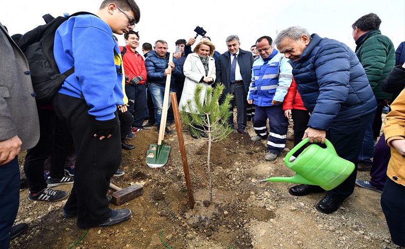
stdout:
[(374, 141), (380, 136), (381, 113), (384, 105), (391, 99), (391, 94), (382, 90), (381, 83), (387, 78), (395, 65), (395, 49), (391, 40), (379, 30), (381, 20), (378, 15), (363, 15), (354, 24), (353, 39), (356, 42), (356, 55), (366, 71), (370, 86), (377, 99), (377, 111), (363, 139), (359, 155), (359, 171), (370, 171), (373, 157)]

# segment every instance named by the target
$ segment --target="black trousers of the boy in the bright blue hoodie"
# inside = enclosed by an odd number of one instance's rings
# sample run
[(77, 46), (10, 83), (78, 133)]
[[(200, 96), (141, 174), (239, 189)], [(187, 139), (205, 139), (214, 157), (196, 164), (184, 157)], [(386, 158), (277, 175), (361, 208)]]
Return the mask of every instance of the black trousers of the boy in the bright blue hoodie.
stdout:
[(74, 183), (65, 210), (69, 213), (77, 210), (79, 227), (98, 226), (111, 214), (107, 191), (122, 157), (118, 114), (115, 112), (114, 135), (99, 140), (93, 137), (95, 117), (88, 114), (90, 107), (85, 100), (58, 93), (54, 109), (66, 123), (76, 150)]

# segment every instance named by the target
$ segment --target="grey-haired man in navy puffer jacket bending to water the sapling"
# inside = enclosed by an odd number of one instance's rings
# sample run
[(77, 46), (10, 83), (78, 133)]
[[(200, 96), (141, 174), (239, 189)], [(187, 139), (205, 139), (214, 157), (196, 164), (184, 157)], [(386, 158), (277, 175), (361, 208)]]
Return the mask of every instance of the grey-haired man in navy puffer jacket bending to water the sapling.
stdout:
[[(376, 110), (373, 91), (356, 54), (343, 43), (290, 27), (278, 33), (274, 44), (291, 59), (298, 91), (312, 113), (303, 138), (311, 143), (324, 143), (327, 138), (339, 157), (355, 165), (349, 178), (316, 205), (320, 212), (331, 214), (353, 193), (361, 142)], [(294, 196), (323, 191), (305, 184), (289, 189)]]

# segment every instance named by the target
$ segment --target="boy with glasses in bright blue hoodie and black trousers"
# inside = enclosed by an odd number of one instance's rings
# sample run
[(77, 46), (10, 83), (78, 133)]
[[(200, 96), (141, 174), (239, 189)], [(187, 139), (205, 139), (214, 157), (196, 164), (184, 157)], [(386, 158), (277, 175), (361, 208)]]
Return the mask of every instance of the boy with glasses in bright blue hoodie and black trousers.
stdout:
[(56, 115), (67, 124), (76, 150), (74, 184), (63, 215), (77, 215), (82, 228), (113, 225), (131, 216), (129, 209), (111, 210), (106, 197), (122, 156), (116, 110), (124, 104), (122, 59), (112, 34), (132, 30), (139, 16), (133, 0), (106, 0), (96, 15), (71, 17), (55, 34), (59, 70), (74, 66), (54, 99)]

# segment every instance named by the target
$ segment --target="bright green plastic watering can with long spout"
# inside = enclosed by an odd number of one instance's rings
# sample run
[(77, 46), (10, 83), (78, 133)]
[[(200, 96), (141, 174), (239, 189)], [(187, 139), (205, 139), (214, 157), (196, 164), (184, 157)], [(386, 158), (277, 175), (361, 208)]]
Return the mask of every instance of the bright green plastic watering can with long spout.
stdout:
[(302, 140), (288, 152), (284, 159), (286, 165), (295, 171), (295, 176), (271, 177), (262, 181), (318, 185), (325, 190), (331, 190), (352, 174), (354, 164), (340, 158), (332, 143), (327, 139), (325, 140), (327, 146), (325, 149), (317, 144), (311, 144), (293, 162), (290, 162), (289, 159), (295, 151), (308, 143), (308, 141), (308, 138)]

